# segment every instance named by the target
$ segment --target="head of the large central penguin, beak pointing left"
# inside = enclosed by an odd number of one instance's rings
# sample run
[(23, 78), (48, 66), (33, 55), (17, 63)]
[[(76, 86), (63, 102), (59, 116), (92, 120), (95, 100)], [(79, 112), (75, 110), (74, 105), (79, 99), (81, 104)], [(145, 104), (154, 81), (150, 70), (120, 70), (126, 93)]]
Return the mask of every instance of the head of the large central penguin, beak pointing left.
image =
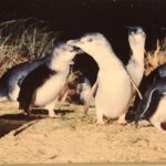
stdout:
[(111, 50), (111, 45), (106, 38), (98, 32), (87, 33), (77, 40), (68, 41), (69, 45), (77, 46), (85, 53), (94, 56), (103, 55)]

